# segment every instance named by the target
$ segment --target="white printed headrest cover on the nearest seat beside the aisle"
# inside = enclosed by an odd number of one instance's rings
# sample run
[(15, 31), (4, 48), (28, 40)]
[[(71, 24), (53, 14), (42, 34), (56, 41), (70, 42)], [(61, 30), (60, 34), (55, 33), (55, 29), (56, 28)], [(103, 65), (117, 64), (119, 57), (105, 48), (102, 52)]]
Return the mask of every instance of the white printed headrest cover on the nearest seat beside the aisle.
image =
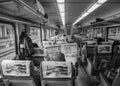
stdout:
[(41, 67), (43, 78), (72, 78), (71, 62), (43, 61)]

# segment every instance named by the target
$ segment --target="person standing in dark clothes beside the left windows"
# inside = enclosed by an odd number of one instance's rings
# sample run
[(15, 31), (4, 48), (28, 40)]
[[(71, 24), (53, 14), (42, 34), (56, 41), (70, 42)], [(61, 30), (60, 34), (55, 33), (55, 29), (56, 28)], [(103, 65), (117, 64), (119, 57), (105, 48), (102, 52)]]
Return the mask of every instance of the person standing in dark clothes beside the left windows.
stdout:
[(31, 38), (24, 31), (19, 38), (19, 59), (31, 59), (31, 55), (34, 54), (34, 47)]

